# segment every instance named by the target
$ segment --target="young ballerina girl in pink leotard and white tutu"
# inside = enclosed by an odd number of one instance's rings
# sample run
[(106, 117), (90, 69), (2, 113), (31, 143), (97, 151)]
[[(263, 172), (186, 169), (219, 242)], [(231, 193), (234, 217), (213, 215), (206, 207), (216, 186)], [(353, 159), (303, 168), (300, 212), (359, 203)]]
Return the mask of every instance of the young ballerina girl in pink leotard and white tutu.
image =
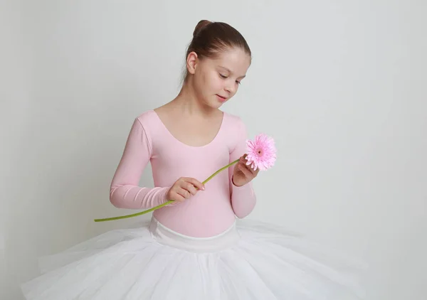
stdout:
[[(181, 92), (135, 119), (110, 189), (117, 208), (174, 203), (154, 210), (147, 227), (106, 232), (41, 259), (43, 274), (22, 286), (26, 299), (361, 299), (357, 265), (279, 227), (241, 220), (255, 206), (259, 169), (246, 165), (245, 125), (219, 108), (250, 65), (235, 28), (197, 24)], [(154, 188), (138, 185), (149, 163)]]

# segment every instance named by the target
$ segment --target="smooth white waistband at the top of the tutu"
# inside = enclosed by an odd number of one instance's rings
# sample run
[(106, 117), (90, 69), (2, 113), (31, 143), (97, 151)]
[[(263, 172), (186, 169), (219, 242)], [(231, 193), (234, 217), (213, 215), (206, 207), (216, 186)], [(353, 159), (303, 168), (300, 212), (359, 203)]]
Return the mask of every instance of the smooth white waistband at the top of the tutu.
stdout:
[(226, 231), (213, 237), (190, 237), (164, 226), (153, 216), (149, 224), (149, 232), (160, 244), (189, 252), (218, 252), (226, 250), (236, 245), (240, 239), (236, 222)]

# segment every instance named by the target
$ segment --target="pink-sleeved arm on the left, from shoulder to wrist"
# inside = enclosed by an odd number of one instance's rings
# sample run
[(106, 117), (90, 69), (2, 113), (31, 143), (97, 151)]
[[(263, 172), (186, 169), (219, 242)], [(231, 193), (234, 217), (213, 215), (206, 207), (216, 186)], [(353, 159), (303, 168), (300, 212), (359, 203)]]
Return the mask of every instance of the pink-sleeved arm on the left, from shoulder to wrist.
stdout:
[(125, 150), (110, 186), (110, 202), (117, 208), (147, 209), (167, 202), (170, 187), (138, 186), (144, 168), (149, 163), (152, 147), (144, 127), (135, 119)]

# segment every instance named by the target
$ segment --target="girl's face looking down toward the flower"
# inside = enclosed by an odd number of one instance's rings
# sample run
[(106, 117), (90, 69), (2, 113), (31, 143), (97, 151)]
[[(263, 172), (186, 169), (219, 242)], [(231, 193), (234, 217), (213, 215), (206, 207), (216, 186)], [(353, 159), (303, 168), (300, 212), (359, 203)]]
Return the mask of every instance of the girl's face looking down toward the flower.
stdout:
[(194, 74), (196, 97), (209, 107), (218, 108), (236, 95), (241, 80), (251, 65), (251, 57), (240, 48), (233, 48), (217, 58), (194, 58), (190, 73)]

